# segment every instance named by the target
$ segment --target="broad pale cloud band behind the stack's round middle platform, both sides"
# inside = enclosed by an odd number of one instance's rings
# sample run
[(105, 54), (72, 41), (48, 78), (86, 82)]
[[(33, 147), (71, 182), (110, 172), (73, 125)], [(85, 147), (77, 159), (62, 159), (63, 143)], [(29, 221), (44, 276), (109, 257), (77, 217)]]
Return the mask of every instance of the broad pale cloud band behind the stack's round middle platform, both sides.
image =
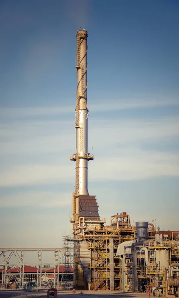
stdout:
[[(68, 156), (69, 149), (73, 153), (75, 147), (75, 130), (70, 121), (21, 120), (5, 125), (0, 131), (0, 186), (72, 183), (75, 165)], [(122, 181), (179, 176), (177, 153), (156, 152), (154, 146), (153, 149), (150, 146), (150, 151), (147, 146), (142, 147), (147, 142), (151, 145), (156, 140), (178, 136), (177, 116), (154, 120), (94, 118), (89, 129), (89, 148), (93, 146), (96, 159), (89, 165), (89, 178)], [(58, 158), (54, 158), (54, 153)], [(17, 154), (21, 154), (20, 164)], [(39, 156), (37, 162), (34, 155)]]

